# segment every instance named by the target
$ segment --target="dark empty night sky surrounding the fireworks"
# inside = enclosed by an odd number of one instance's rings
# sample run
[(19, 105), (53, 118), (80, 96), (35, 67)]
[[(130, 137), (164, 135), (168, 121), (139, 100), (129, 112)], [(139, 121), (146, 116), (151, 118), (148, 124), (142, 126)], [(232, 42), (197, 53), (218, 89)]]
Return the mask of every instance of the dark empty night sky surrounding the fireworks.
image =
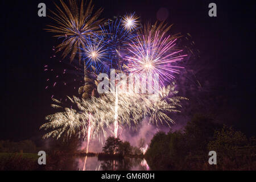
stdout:
[[(54, 9), (52, 1), (1, 1), (0, 139), (38, 139), (39, 126), (51, 113), (43, 66), (53, 55), (52, 46), (59, 42), (43, 30), (51, 20), (38, 17), (40, 2)], [(217, 17), (208, 16), (210, 2), (217, 4)], [(143, 21), (154, 22), (157, 11), (166, 7), (169, 11), (166, 21), (174, 23), (172, 30), (192, 35), (201, 52), (197, 63), (203, 67), (204, 61), (208, 61), (207, 66), (213, 68), (207, 75), (214, 77), (209, 92), (226, 100), (225, 105), (220, 102), (213, 110), (221, 108), (218, 112), (226, 113), (222, 122), (227, 121), (248, 135), (255, 135), (256, 129), (252, 2), (94, 0), (96, 8), (104, 7), (102, 18), (135, 11)]]

